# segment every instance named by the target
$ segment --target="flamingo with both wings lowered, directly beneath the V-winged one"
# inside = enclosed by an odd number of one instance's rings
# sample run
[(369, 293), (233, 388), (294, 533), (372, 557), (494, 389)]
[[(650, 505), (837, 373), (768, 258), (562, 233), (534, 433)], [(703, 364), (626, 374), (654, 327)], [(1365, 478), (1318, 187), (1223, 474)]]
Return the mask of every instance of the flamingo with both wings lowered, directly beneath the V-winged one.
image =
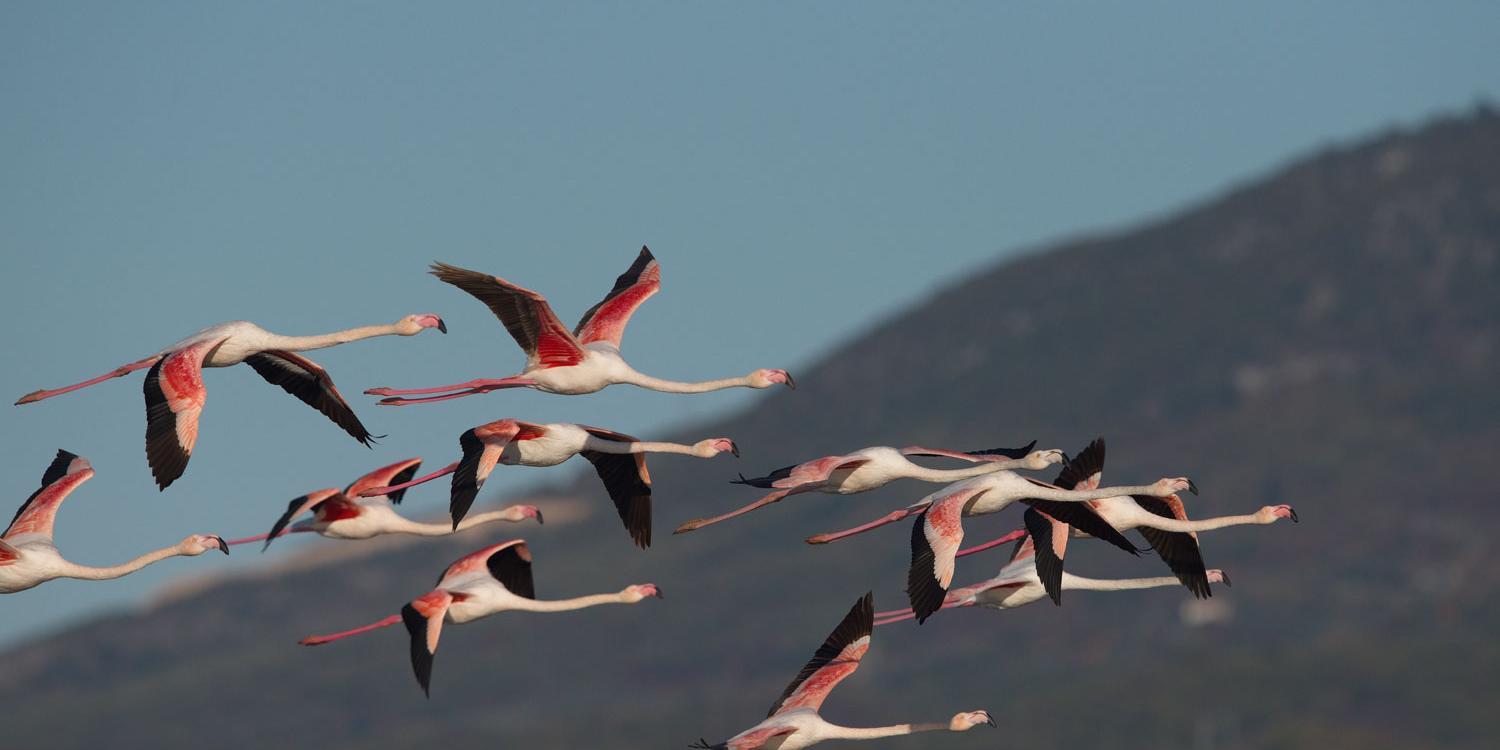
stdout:
[(538, 424), (516, 418), (480, 424), (459, 435), (459, 447), (464, 450), (464, 458), (458, 462), (424, 477), (366, 489), (362, 495), (399, 492), (453, 474), (448, 512), (453, 516), (453, 528), (458, 528), (496, 464), (555, 466), (574, 454), (582, 454), (604, 482), (609, 500), (615, 502), (630, 538), (645, 549), (651, 546), (651, 472), (646, 471), (646, 453), (680, 453), (700, 459), (711, 459), (724, 452), (740, 456), (740, 448), (729, 438), (708, 438), (692, 446), (650, 442), (588, 424)]

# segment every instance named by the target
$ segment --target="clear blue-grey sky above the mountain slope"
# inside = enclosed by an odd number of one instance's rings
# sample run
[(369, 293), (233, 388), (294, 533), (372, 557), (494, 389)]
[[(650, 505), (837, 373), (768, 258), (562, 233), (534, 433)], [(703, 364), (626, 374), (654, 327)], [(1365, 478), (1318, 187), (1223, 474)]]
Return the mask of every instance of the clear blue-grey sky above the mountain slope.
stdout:
[[(320, 333), (430, 310), (452, 330), (314, 354), (390, 434), (374, 453), (248, 368), (210, 370), (198, 452), (158, 494), (135, 374), (10, 408), (4, 502), (57, 447), (87, 456), (58, 543), (114, 564), (261, 532), (405, 456), (440, 466), (504, 416), (652, 435), (754, 394), (388, 410), (358, 392), (520, 368), (428, 262), (543, 291), (572, 322), (642, 243), (663, 291), (626, 338), (638, 368), (795, 374), (1006, 252), (1494, 98), (1496, 28), (1496, 3), (4, 3), (0, 396), (225, 320)], [(518, 471), (486, 498), (548, 476)], [(304, 542), (334, 544), (280, 554)], [(0, 644), (264, 562), (240, 548), (0, 597)]]

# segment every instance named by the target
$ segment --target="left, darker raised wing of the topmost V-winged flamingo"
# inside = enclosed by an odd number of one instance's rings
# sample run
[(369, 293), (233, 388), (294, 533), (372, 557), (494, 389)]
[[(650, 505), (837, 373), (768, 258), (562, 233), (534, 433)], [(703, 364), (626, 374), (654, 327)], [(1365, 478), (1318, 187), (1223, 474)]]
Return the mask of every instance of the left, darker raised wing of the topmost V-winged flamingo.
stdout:
[(526, 352), (530, 368), (567, 368), (584, 362), (584, 346), (558, 321), (546, 297), (498, 276), (432, 264), (432, 274), (483, 302)]

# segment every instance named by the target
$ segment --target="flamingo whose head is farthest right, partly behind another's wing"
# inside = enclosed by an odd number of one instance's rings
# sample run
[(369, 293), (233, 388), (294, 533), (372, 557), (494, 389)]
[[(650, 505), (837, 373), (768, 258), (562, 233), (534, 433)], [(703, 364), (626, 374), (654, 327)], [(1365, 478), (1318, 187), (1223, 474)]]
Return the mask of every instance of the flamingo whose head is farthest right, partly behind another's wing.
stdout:
[[(1089, 442), (1077, 456), (1065, 462), (1054, 484), (1064, 489), (1095, 489), (1104, 476), (1104, 438)], [(1040, 560), (1056, 560), (1062, 567), (1062, 548), (1066, 537), (1089, 537), (1080, 530), (1056, 531), (1042, 530), (1042, 525), (1064, 524), (1076, 513), (1072, 506), (1052, 501), (1038, 501), (1032, 507), (1042, 510), (1034, 522), (1038, 525), (1036, 538), (1056, 540), (1056, 543), (1041, 544)], [(1298, 522), (1298, 512), (1292, 506), (1264, 506), (1248, 516), (1221, 516), (1203, 520), (1188, 520), (1186, 508), (1179, 495), (1166, 498), (1150, 495), (1122, 495), (1113, 498), (1090, 500), (1089, 507), (1118, 531), (1138, 530), (1152, 549), (1173, 574), (1192, 591), (1198, 598), (1214, 596), (1209, 586), (1208, 570), (1203, 567), (1203, 554), (1198, 549), (1197, 532), (1215, 528), (1238, 526), (1248, 524), (1275, 524), (1281, 519)], [(1062, 534), (1062, 536), (1058, 536)], [(986, 544), (987, 549), (992, 544)], [(957, 556), (978, 552), (980, 548), (958, 550)], [(1054, 579), (1053, 579), (1054, 580)], [(1058, 591), (1053, 591), (1054, 594)], [(1059, 594), (1060, 596), (1060, 594)]]

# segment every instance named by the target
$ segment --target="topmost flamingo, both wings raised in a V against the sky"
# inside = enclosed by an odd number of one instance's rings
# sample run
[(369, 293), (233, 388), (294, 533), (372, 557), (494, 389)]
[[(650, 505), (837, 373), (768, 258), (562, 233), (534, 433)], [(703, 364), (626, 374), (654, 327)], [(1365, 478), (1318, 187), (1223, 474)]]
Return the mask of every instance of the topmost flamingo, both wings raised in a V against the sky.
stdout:
[[(662, 288), (662, 268), (648, 248), (640, 248), (640, 255), (630, 268), (620, 274), (615, 286), (598, 304), (584, 314), (584, 320), (572, 333), (552, 312), (546, 297), (531, 290), (498, 276), (446, 262), (432, 264), (432, 274), (489, 306), (516, 344), (525, 350), (526, 368), (508, 378), (480, 378), (434, 388), (380, 387), (364, 392), (372, 396), (390, 396), (381, 399), (382, 405), (428, 404), (500, 388), (536, 388), (573, 396), (594, 393), (616, 382), (666, 393), (704, 393), (734, 387), (770, 388), (776, 384), (796, 387), (792, 376), (780, 369), (759, 369), (740, 378), (680, 382), (652, 378), (626, 364), (620, 356), (620, 339), (626, 333), (626, 324), (630, 322), (636, 308)], [(441, 396), (400, 398), (423, 393), (441, 393)]]

